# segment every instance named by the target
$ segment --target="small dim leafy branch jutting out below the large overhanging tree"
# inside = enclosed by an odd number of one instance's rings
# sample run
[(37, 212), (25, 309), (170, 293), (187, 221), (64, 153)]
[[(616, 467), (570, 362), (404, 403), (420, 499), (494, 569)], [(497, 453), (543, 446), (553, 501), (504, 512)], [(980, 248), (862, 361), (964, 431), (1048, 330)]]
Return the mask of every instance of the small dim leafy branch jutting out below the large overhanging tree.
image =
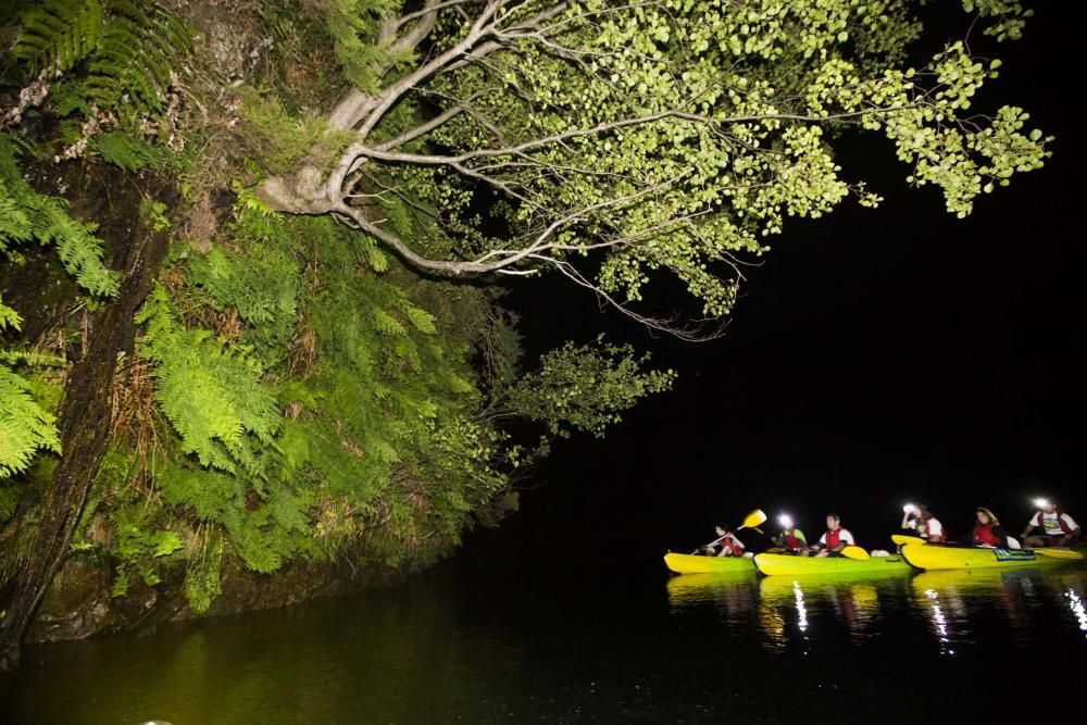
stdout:
[(510, 407), (520, 415), (546, 423), (553, 434), (571, 430), (604, 435), (622, 413), (647, 395), (672, 387), (672, 371), (644, 371), (649, 357), (630, 346), (597, 338), (595, 345), (567, 342), (523, 376), (510, 391)]

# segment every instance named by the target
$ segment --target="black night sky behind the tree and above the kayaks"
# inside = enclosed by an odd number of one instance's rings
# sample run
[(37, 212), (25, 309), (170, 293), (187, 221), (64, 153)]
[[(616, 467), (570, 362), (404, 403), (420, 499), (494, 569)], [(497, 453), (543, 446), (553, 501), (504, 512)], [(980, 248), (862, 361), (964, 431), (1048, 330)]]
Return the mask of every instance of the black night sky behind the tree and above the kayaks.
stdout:
[[(961, 8), (934, 4), (922, 52), (969, 27)], [(1074, 4), (1044, 3), (1021, 41), (971, 39), (1004, 61), (975, 107), (1022, 105), (1057, 142), (1046, 168), (979, 199), (970, 218), (947, 214), (937, 190), (909, 188), (885, 139), (858, 137), (839, 162), (885, 203), (787, 228), (748, 271), (723, 339), (654, 339), (561, 280), (515, 286), (508, 302), (530, 353), (604, 330), (679, 380), (605, 440), (559, 443), (522, 511), (477, 540), (649, 554), (709, 540), (715, 521), (761, 507), (809, 532), (840, 512), (878, 547), (907, 500), (955, 535), (976, 505), (1017, 533), (1041, 493), (1087, 518)]]

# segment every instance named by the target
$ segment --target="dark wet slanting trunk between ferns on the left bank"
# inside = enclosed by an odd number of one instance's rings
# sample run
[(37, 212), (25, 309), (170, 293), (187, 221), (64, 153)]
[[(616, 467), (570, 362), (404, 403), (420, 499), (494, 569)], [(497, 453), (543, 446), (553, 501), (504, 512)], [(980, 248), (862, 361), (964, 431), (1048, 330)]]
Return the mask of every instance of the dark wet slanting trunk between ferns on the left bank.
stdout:
[(18, 664), (26, 628), (67, 554), (109, 441), (113, 415), (110, 387), (117, 355), (133, 348), (133, 317), (147, 298), (168, 247), (164, 233), (152, 234), (139, 221), (138, 200), (136, 204), (120, 204), (121, 218), (116, 212), (111, 214), (110, 221), (120, 222), (115, 226), (123, 230), (115, 238), (114, 257), (122, 262), (124, 278), (117, 297), (107, 304), (95, 326), (86, 353), (72, 368), (64, 390), (59, 415), (63, 454), (41, 502), (41, 520), (30, 553), (15, 575), (7, 614), (0, 618), (0, 670)]

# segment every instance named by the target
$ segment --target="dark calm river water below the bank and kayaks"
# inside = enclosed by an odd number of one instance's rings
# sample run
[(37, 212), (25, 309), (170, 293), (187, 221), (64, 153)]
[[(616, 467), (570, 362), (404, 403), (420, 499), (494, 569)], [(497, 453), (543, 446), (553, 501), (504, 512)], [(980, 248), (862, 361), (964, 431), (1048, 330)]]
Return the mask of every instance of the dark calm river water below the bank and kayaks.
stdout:
[(393, 590), (33, 647), (0, 678), (0, 720), (974, 722), (1083, 682), (1079, 566), (669, 579), (659, 560), (523, 553), (486, 565), (470, 548)]

